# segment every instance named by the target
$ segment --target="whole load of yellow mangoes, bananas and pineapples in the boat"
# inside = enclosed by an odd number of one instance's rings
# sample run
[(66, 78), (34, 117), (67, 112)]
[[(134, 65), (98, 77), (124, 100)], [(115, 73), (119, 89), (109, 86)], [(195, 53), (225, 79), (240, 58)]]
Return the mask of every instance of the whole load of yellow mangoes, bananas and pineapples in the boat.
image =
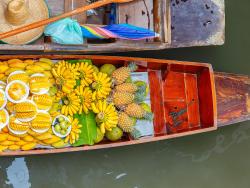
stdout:
[(0, 152), (115, 142), (136, 134), (138, 119), (152, 121), (135, 63), (11, 59), (0, 68)]

